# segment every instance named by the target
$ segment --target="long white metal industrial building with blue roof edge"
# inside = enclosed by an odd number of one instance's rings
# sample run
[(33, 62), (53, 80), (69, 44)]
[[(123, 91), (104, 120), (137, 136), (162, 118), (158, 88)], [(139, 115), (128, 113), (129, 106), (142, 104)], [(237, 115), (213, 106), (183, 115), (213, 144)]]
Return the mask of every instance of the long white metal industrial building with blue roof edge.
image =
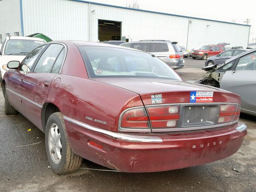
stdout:
[(172, 40), (188, 49), (226, 42), (246, 48), (250, 26), (82, 0), (0, 0), (0, 40), (36, 32), (53, 40)]

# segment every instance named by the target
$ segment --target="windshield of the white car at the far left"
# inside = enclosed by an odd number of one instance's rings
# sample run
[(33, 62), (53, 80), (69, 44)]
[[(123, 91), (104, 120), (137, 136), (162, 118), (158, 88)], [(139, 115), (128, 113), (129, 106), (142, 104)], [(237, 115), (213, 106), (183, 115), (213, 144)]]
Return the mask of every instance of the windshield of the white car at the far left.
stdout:
[(6, 55), (27, 55), (38, 46), (44, 44), (42, 41), (11, 39), (6, 43), (4, 54)]

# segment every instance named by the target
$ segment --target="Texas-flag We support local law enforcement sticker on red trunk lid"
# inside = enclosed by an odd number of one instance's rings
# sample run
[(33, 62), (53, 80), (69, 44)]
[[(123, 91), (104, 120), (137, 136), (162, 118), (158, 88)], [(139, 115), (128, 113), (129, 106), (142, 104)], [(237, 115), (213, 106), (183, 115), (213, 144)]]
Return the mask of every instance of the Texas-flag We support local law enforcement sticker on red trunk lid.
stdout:
[(210, 103), (213, 102), (213, 91), (191, 91), (190, 103)]

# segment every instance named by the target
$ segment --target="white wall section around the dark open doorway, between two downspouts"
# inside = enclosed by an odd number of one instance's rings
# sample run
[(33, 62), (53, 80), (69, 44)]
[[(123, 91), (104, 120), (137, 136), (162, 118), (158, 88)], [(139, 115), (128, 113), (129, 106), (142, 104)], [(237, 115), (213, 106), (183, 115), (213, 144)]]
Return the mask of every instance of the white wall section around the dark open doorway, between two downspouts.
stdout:
[(122, 22), (122, 36), (130, 36), (132, 41), (160, 39), (186, 45), (188, 18), (95, 4), (90, 10), (92, 41), (98, 41), (98, 19), (104, 19)]

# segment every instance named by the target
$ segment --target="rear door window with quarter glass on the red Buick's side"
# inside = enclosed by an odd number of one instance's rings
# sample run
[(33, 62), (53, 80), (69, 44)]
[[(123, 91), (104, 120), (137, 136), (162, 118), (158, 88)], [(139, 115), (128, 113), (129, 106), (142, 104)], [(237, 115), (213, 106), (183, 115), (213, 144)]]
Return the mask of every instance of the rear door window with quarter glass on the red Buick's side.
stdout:
[(52, 66), (64, 46), (61, 44), (50, 44), (38, 60), (34, 72), (50, 73)]

